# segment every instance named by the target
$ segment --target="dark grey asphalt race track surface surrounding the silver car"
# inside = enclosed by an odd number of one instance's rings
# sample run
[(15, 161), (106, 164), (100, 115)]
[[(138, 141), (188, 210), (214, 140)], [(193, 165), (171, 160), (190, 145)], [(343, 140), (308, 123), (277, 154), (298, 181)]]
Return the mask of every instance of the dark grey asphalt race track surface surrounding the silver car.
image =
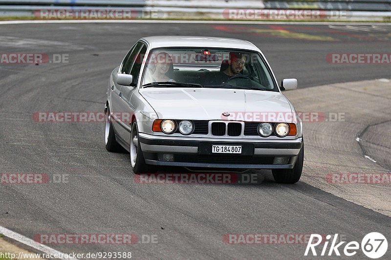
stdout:
[[(226, 234), (341, 234), (361, 242), (366, 234), (380, 232), (391, 239), (390, 217), (304, 181), (277, 184), (263, 170), (255, 171), (263, 179), (259, 184), (139, 184), (129, 154), (106, 151), (104, 123), (33, 120), (34, 112), (103, 111), (111, 70), (136, 40), (152, 35), (250, 40), (261, 48), (278, 80), (297, 78), (299, 90), (391, 78), (390, 63), (335, 64), (326, 59), (333, 53), (389, 53), (391, 26), (381, 24), (0, 25), (0, 53), (68, 57), (67, 63), (0, 64), (0, 173), (69, 175), (67, 183), (0, 184), (0, 226), (31, 239), (38, 234), (136, 234), (140, 243), (131, 245), (48, 245), (64, 253), (131, 252), (132, 259), (304, 258), (306, 244), (227, 244)], [(324, 98), (319, 102), (328, 101)], [(357, 102), (365, 106), (365, 100)], [(385, 132), (389, 141), (390, 131)], [(389, 154), (379, 156), (389, 161)], [(322, 168), (315, 171), (326, 174)], [(151, 237), (157, 243), (142, 241)], [(354, 259), (368, 258), (358, 251)], [(391, 259), (390, 248), (383, 259)]]

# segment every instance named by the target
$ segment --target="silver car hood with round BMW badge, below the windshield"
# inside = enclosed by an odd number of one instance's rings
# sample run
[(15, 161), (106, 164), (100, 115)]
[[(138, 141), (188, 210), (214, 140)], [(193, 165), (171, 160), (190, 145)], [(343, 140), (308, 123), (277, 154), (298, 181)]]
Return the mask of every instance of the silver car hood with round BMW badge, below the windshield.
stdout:
[[(280, 92), (221, 88), (145, 88), (139, 92), (159, 119), (292, 122), (290, 104)], [(230, 115), (223, 115), (226, 112)]]

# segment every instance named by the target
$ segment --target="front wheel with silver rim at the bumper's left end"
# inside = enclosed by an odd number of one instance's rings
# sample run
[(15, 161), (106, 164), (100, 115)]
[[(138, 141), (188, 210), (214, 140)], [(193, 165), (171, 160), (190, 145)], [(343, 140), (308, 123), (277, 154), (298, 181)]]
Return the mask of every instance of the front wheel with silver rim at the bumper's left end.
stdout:
[(138, 128), (136, 121), (133, 122), (130, 133), (130, 164), (135, 174), (155, 172), (152, 165), (145, 163), (143, 151), (141, 151), (140, 141), (138, 140)]

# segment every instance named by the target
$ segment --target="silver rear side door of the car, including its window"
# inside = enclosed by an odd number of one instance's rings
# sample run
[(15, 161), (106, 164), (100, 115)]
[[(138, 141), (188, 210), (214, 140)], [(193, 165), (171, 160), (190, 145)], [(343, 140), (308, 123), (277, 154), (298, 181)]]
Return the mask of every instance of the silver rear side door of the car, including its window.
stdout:
[[(125, 56), (124, 60), (122, 61), (121, 65), (118, 68), (118, 73), (122, 74), (129, 74), (130, 68), (133, 65), (134, 58), (139, 53), (141, 46), (143, 45), (142, 42), (137, 42), (133, 45), (133, 47), (130, 49), (128, 54)], [(115, 73), (114, 73), (115, 74)], [(126, 119), (126, 113), (129, 112), (128, 110), (123, 110), (123, 107), (121, 105), (122, 103), (122, 94), (121, 94), (121, 88), (122, 85), (117, 84), (117, 74), (113, 75), (113, 86), (111, 86), (111, 112), (113, 112), (113, 127), (115, 129), (115, 132), (117, 133), (117, 137), (119, 137), (122, 140), (127, 140), (128, 136), (128, 129), (125, 127), (127, 122)], [(125, 113), (124, 113), (125, 112)]]

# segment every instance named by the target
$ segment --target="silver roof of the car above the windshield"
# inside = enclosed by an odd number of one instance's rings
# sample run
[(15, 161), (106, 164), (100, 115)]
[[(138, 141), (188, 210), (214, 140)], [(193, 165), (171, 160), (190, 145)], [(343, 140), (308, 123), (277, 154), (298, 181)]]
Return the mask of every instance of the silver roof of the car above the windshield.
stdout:
[(144, 37), (150, 48), (161, 47), (209, 47), (209, 48), (230, 48), (259, 51), (257, 46), (247, 40), (203, 37), (203, 36), (151, 36)]

